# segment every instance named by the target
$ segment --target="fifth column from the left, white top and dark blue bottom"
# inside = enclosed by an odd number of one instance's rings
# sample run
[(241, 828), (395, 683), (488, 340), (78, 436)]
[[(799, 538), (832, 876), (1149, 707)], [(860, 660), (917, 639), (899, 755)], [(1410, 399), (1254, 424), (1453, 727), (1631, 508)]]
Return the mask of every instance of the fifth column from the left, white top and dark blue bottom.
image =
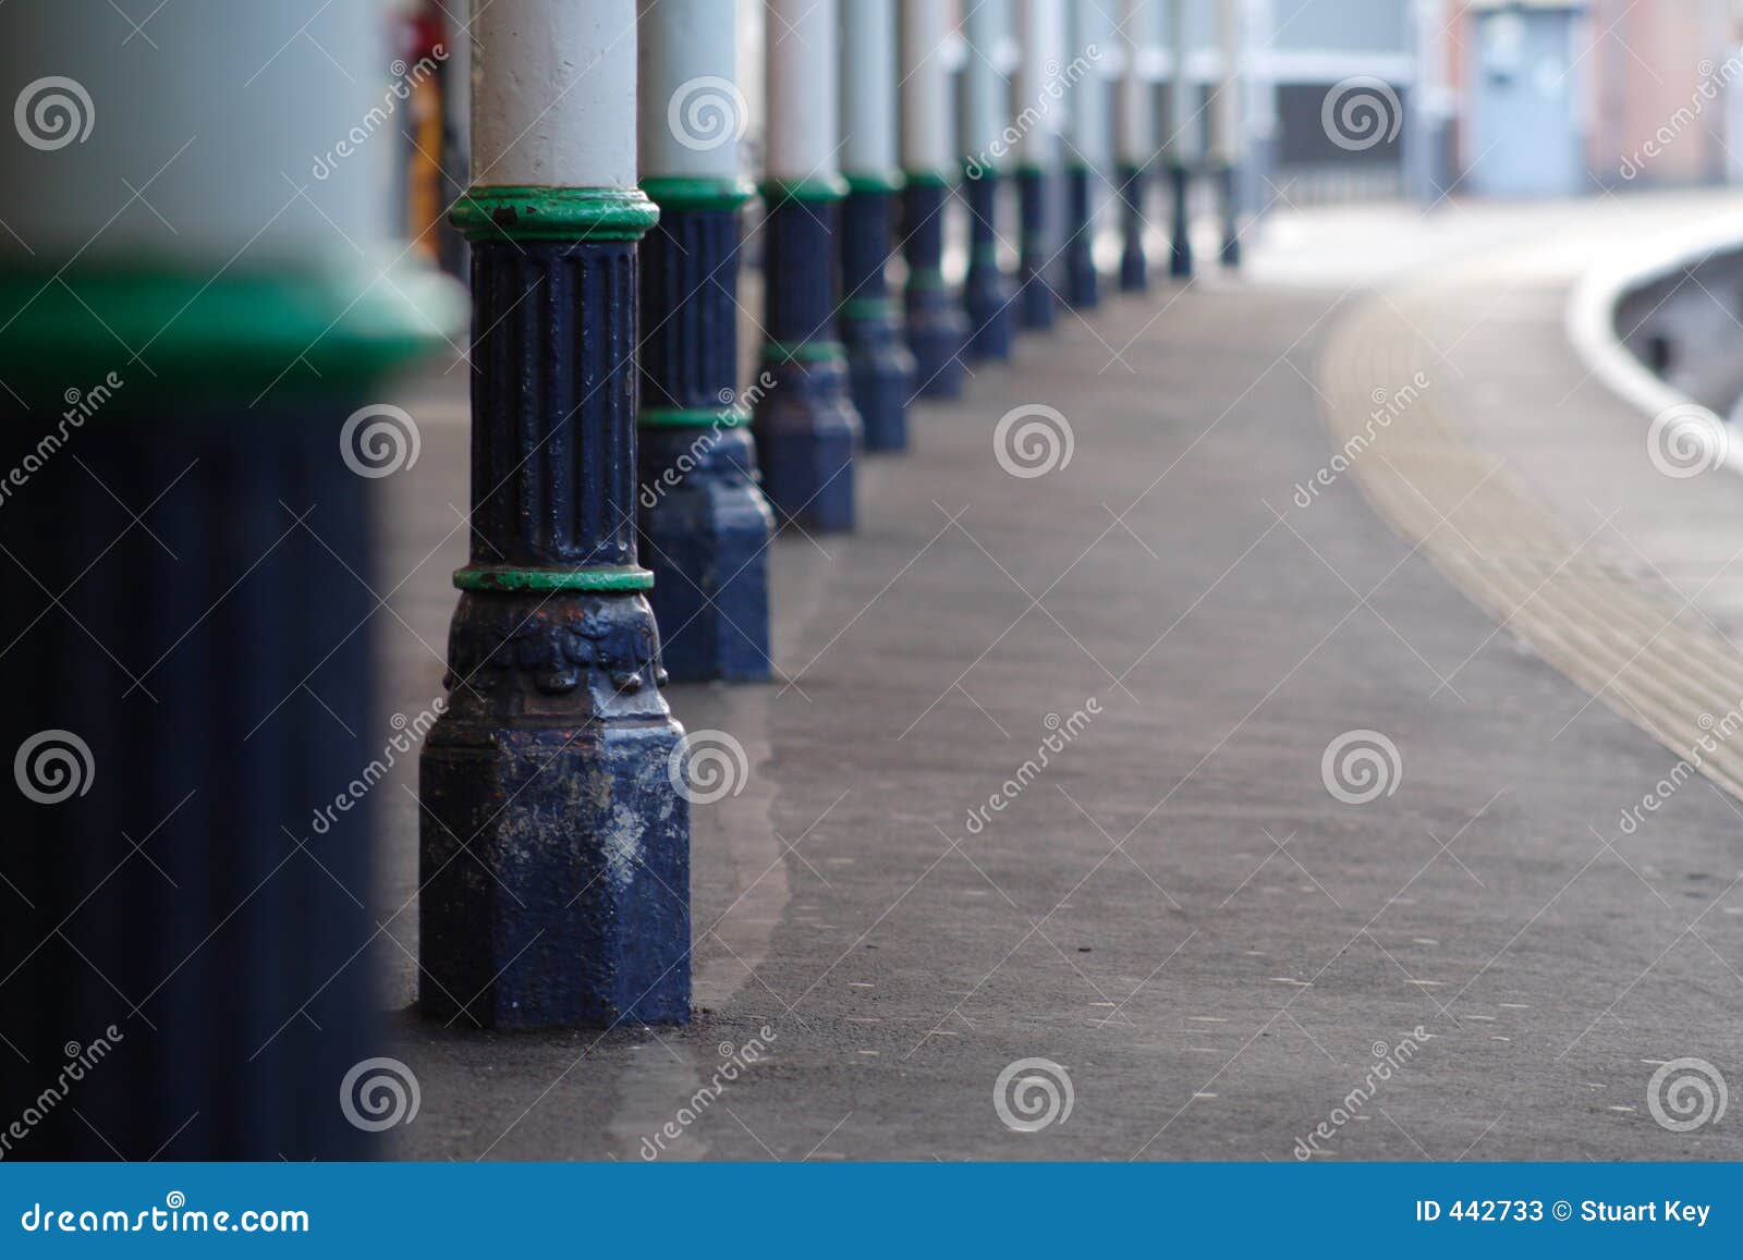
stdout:
[(842, 342), (870, 451), (908, 446), (915, 364), (891, 293), (901, 160), (896, 146), (896, 0), (842, 0)]

